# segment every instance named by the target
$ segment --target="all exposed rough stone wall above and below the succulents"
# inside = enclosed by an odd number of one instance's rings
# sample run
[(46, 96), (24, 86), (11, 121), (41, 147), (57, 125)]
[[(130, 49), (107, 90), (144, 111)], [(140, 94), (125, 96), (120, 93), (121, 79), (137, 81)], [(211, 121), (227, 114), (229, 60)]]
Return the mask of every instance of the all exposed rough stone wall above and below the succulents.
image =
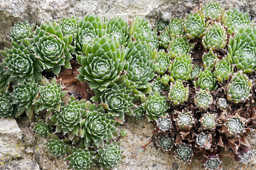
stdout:
[[(255, 0), (220, 2), (225, 7), (238, 5), (244, 11), (250, 9), (251, 18), (255, 18)], [(173, 16), (184, 16), (198, 4), (198, 0), (0, 0), (0, 49), (4, 48), (3, 41), (9, 40), (10, 27), (18, 21), (28, 20), (40, 25), (47, 20), (84, 17), (86, 14), (106, 17), (119, 15), (127, 20), (137, 15), (158, 19), (165, 11)], [(37, 137), (30, 130), (30, 122), (27, 119), (17, 121), (21, 130), (15, 120), (0, 120), (0, 169), (67, 169), (67, 161), (49, 154), (44, 146), (46, 139)], [(174, 152), (156, 150), (154, 143), (151, 143), (144, 153), (138, 152), (139, 146), (151, 140), (154, 128), (154, 124), (147, 122), (146, 118), (141, 121), (128, 118), (128, 124), (119, 127), (119, 131), (126, 129), (128, 132), (121, 144), (127, 158), (115, 169), (203, 169), (196, 159), (193, 159), (191, 164), (183, 164), (174, 159)], [(256, 148), (255, 134), (251, 136), (250, 142), (252, 148)], [(233, 158), (222, 159), (224, 169), (254, 169), (255, 163), (255, 156), (248, 165), (237, 164)]]

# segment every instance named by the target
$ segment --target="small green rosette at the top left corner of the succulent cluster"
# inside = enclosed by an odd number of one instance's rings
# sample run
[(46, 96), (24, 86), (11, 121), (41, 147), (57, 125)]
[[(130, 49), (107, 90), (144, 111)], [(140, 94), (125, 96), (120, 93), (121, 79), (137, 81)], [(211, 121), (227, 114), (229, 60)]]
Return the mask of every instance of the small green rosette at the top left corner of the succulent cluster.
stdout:
[(16, 44), (20, 44), (24, 39), (31, 38), (35, 34), (34, 29), (35, 23), (29, 24), (27, 21), (19, 22), (11, 28), (10, 38)]

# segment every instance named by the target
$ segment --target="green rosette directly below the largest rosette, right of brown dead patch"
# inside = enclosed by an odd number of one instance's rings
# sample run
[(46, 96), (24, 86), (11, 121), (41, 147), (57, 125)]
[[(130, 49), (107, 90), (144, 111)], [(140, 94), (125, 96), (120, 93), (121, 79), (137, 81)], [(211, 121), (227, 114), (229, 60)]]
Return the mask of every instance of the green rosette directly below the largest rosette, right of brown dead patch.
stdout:
[[(94, 98), (98, 98), (97, 101), (105, 103), (105, 108), (112, 116), (117, 116), (121, 120), (124, 120), (125, 114), (131, 113), (131, 107), (133, 103), (133, 97), (131, 97), (131, 91), (126, 88), (126, 84), (115, 84), (112, 83), (103, 92), (95, 91), (96, 95)], [(96, 100), (94, 100), (96, 101)]]

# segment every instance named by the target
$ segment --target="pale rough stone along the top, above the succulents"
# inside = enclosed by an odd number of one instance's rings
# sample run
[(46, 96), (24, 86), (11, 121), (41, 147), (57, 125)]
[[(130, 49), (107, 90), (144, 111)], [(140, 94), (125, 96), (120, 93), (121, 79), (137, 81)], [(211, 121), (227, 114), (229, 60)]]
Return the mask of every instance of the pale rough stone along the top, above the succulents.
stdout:
[[(238, 5), (244, 11), (250, 9), (251, 17), (255, 18), (254, 0), (221, 0), (220, 2), (225, 7)], [(47, 20), (60, 20), (63, 17), (84, 17), (86, 14), (107, 17), (119, 15), (125, 19), (133, 19), (134, 16), (140, 15), (157, 19), (164, 11), (174, 16), (184, 16), (198, 4), (199, 0), (0, 0), (0, 49), (4, 47), (3, 40), (8, 40), (10, 27), (19, 20), (40, 24)]]

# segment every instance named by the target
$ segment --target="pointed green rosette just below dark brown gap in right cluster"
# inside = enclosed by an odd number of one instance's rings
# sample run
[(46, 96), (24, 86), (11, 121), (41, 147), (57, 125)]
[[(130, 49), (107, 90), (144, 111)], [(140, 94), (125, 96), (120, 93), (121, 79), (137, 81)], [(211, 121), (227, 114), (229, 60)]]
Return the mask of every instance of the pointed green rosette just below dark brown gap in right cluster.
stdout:
[(195, 87), (200, 87), (203, 90), (208, 89), (209, 91), (216, 90), (216, 78), (212, 74), (210, 67), (207, 67), (204, 71), (201, 71), (197, 81), (194, 82)]

